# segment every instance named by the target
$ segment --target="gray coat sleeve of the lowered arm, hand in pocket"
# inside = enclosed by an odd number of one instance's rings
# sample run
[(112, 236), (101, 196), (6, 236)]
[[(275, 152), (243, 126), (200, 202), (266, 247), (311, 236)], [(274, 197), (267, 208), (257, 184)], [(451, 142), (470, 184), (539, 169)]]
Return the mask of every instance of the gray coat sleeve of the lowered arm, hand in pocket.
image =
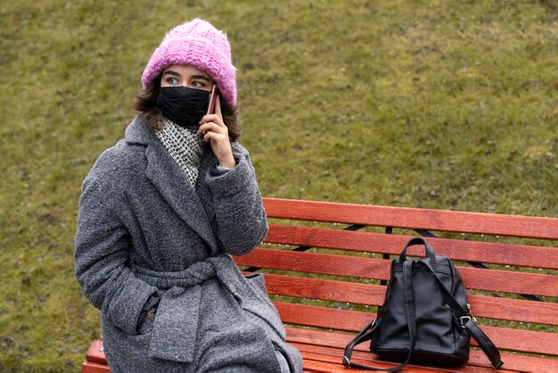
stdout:
[(135, 334), (137, 319), (157, 291), (127, 267), (129, 237), (119, 221), (119, 194), (86, 178), (79, 201), (74, 252), (78, 283), (87, 299), (116, 327)]

